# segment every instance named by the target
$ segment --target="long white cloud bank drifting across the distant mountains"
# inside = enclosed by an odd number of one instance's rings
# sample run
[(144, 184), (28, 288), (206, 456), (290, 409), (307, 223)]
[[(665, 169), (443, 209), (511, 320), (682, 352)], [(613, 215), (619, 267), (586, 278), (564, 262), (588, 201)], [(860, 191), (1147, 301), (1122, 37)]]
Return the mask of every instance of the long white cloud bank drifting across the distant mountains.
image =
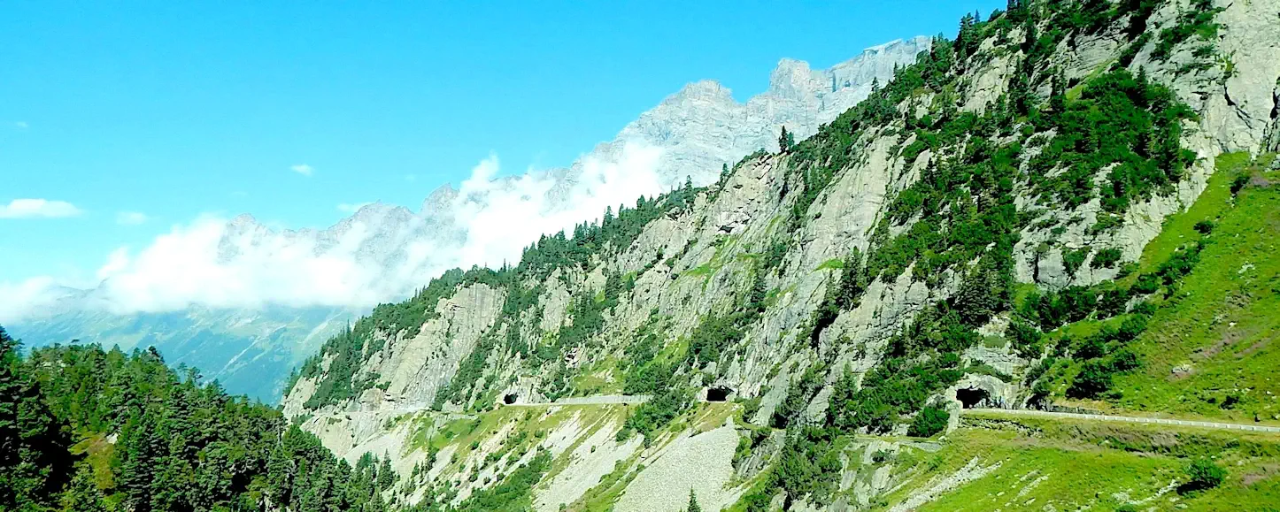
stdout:
[[(113, 251), (97, 270), (93, 303), (116, 314), (189, 306), (367, 308), (397, 301), (452, 268), (520, 260), (541, 234), (634, 206), (662, 189), (662, 150), (627, 145), (588, 156), (572, 172), (500, 175), (497, 156), (476, 165), (456, 193), (422, 212), (372, 204), (323, 230), (271, 230), (248, 218), (202, 216), (174, 225), (148, 246)], [(430, 211), (428, 211), (430, 210)], [(56, 280), (0, 283), (0, 323), (38, 316)]]

